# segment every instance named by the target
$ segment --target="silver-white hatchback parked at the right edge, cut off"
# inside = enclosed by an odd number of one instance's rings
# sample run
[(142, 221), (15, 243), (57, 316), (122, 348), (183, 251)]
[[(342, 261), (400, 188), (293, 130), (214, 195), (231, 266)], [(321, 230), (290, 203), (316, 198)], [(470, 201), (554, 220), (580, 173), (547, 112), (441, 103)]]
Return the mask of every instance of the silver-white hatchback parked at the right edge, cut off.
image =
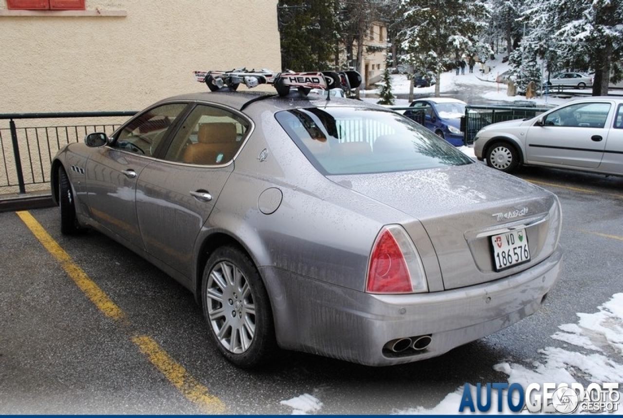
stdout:
[(487, 125), (473, 150), (503, 172), (523, 164), (623, 175), (623, 98), (572, 100), (532, 119)]

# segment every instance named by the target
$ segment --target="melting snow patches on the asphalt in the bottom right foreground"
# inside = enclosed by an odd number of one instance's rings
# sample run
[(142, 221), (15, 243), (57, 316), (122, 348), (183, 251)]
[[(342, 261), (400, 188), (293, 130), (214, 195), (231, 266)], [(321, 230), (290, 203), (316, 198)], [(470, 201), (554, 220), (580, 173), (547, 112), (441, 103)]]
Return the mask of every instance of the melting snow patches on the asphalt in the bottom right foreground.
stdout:
[[(508, 384), (518, 383), (526, 389), (531, 383), (543, 385), (545, 382), (567, 383), (586, 379), (590, 382), (623, 382), (623, 365), (602, 354), (613, 352), (612, 357), (621, 359), (623, 356), (623, 293), (616, 293), (596, 313), (578, 313), (577, 324), (563, 324), (559, 326), (562, 332), (551, 336), (580, 348), (582, 352), (570, 351), (564, 348), (546, 347), (538, 353), (540, 359), (530, 366), (523, 366), (509, 361), (502, 361), (493, 369), (508, 375)], [(581, 382), (579, 382), (581, 383)], [(586, 386), (584, 386), (586, 388)], [(471, 386), (475, 393), (475, 386)], [(619, 387), (621, 391), (621, 387)], [(414, 405), (409, 409), (391, 411), (394, 415), (437, 415), (457, 414), (461, 403), (464, 387), (458, 387), (435, 407), (426, 409)], [(497, 391), (492, 391), (492, 405), (498, 404)], [(307, 412), (321, 413), (322, 402), (316, 397), (304, 394), (289, 401), (282, 401), (283, 405), (293, 408), (292, 414), (307, 414)], [(503, 414), (510, 414), (506, 402), (502, 402)], [(527, 411), (523, 411), (528, 413)], [(470, 414), (466, 409), (463, 414)], [(483, 414), (483, 412), (475, 412)], [(490, 414), (497, 414), (497, 408), (492, 407)], [(577, 411), (576, 411), (577, 413)], [(614, 414), (621, 415), (621, 408)]]

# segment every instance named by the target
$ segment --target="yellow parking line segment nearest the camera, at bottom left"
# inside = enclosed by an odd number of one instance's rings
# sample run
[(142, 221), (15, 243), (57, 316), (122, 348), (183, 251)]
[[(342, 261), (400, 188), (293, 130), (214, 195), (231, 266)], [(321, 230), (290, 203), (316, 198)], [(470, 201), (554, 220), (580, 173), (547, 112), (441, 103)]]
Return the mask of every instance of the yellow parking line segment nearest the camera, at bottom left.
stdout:
[(197, 382), (190, 376), (183, 366), (174, 361), (158, 343), (148, 336), (136, 336), (132, 338), (138, 348), (145, 354), (151, 363), (166, 376), (167, 379), (187, 399), (199, 406), (203, 406), (206, 414), (223, 414), (227, 408), (220, 399), (208, 393), (207, 387)]

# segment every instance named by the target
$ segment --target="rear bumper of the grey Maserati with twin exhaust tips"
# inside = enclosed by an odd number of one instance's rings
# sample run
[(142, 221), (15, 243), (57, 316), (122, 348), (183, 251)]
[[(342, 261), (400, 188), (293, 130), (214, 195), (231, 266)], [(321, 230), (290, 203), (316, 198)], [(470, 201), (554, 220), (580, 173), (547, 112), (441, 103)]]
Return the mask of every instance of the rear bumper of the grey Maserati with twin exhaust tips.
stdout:
[[(535, 313), (558, 279), (562, 251), (513, 276), (427, 294), (372, 295), (262, 268), (278, 344), (369, 366), (439, 356)], [(430, 338), (424, 349), (388, 343)], [(420, 340), (422, 341), (422, 340)], [(401, 348), (402, 341), (398, 348)]]

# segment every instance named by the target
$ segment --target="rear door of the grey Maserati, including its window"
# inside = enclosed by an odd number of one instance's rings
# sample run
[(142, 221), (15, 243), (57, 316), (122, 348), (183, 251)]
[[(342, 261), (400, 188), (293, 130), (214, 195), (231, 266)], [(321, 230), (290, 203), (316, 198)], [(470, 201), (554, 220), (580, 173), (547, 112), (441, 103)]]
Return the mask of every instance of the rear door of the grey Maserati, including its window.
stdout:
[(233, 110), (196, 105), (163, 158), (138, 178), (136, 214), (145, 249), (187, 278), (197, 235), (234, 171), (249, 127)]

